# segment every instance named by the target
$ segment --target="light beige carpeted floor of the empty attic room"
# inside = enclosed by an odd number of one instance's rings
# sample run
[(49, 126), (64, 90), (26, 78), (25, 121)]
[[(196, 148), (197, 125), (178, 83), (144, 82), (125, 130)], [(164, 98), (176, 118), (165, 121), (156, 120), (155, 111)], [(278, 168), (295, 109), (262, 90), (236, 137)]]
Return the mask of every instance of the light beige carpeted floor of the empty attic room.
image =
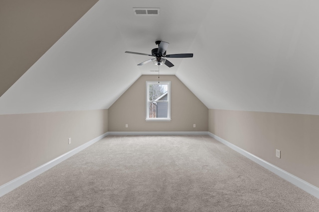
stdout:
[(209, 136), (108, 136), (0, 198), (0, 212), (319, 212)]

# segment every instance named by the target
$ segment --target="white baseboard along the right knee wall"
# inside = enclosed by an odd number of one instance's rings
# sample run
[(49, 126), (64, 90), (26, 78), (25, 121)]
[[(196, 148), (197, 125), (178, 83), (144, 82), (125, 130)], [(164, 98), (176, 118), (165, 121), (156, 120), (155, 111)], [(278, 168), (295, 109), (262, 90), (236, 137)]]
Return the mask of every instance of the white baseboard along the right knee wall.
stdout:
[(259, 165), (263, 166), (264, 168), (268, 169), (269, 171), (277, 174), (278, 176), (284, 178), (285, 180), (287, 180), (288, 182), (294, 184), (295, 186), (301, 188), (302, 190), (308, 192), (309, 194), (319, 198), (319, 188), (317, 188), (316, 186), (288, 173), (287, 171), (267, 162), (266, 160), (263, 160), (259, 157), (257, 157), (256, 155), (253, 155), (251, 153), (249, 153), (248, 151), (228, 142), (223, 140), (222, 138), (208, 132), (208, 135), (214, 139), (216, 139), (217, 141), (225, 144), (226, 146), (234, 149), (235, 151), (239, 152), (240, 154), (244, 155), (245, 157), (251, 159), (252, 161), (258, 163)]

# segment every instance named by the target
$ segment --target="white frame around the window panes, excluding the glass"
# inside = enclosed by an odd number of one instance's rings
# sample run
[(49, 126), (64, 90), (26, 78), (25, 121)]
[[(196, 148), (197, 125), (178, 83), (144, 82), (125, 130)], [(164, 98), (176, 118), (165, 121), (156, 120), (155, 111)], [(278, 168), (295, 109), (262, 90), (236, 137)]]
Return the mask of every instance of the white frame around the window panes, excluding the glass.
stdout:
[[(149, 103), (154, 102), (149, 100), (149, 84), (167, 84), (167, 118), (150, 118)], [(170, 81), (146, 81), (146, 121), (170, 121)]]

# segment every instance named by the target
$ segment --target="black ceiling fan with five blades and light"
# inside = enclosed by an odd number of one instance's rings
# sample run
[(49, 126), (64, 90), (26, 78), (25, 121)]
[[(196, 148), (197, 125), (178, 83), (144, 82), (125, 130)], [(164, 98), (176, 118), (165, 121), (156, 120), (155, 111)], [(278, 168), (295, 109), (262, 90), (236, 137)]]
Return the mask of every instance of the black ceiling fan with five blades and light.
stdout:
[(147, 60), (147, 61), (144, 61), (144, 62), (138, 64), (138, 66), (142, 66), (142, 65), (150, 63), (152, 61), (155, 65), (160, 66), (160, 65), (165, 64), (169, 68), (173, 67), (174, 65), (164, 58), (192, 58), (193, 57), (193, 54), (166, 55), (166, 49), (167, 49), (169, 43), (164, 42), (164, 41), (156, 41), (155, 44), (158, 45), (158, 48), (152, 49), (152, 55), (138, 53), (138, 52), (128, 52), (128, 51), (126, 51), (125, 53), (155, 57), (153, 59), (150, 59), (150, 60)]

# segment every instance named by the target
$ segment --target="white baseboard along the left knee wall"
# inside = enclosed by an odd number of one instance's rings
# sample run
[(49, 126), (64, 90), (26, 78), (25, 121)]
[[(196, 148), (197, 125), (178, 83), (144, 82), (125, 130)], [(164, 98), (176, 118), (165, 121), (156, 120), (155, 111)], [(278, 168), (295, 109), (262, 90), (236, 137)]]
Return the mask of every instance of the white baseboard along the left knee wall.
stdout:
[(31, 180), (32, 178), (42, 174), (43, 172), (47, 171), (48, 169), (52, 168), (53, 166), (59, 164), (60, 162), (62, 162), (63, 160), (66, 160), (67, 158), (73, 156), (74, 154), (82, 151), (83, 149), (85, 149), (86, 147), (92, 145), (93, 143), (95, 143), (96, 141), (99, 141), (101, 139), (103, 139), (104, 137), (108, 136), (109, 133), (105, 133), (91, 141), (88, 141), (74, 149), (72, 149), (71, 151), (66, 152), (65, 154), (62, 154), (61, 156), (23, 174), (20, 177), (15, 178), (14, 180), (11, 180), (10, 182), (3, 184), (2, 186), (0, 186), (0, 197), (7, 194), (8, 192), (12, 191), (13, 189), (19, 187), (20, 185), (22, 185), (23, 183), (26, 183), (27, 181)]

